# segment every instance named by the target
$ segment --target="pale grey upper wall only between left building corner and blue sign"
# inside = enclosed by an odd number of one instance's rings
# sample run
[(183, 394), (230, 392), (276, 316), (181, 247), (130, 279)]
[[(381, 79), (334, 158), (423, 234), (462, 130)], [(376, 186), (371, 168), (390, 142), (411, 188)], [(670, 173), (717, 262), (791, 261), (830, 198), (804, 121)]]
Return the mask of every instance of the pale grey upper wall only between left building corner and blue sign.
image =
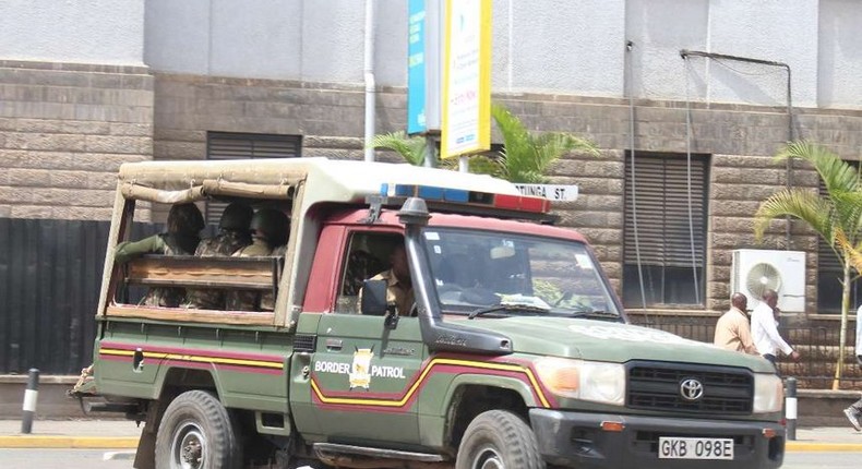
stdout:
[[(407, 7), (376, 4), (378, 83), (407, 80)], [(364, 2), (148, 0), (146, 63), (164, 72), (274, 80), (362, 80)]]

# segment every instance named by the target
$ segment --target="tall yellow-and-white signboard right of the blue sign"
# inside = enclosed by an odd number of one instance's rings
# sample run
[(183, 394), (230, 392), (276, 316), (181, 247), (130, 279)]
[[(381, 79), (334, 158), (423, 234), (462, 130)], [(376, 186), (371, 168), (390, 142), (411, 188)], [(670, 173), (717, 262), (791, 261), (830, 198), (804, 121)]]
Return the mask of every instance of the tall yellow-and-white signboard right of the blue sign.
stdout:
[(441, 157), (491, 147), (491, 0), (446, 0)]

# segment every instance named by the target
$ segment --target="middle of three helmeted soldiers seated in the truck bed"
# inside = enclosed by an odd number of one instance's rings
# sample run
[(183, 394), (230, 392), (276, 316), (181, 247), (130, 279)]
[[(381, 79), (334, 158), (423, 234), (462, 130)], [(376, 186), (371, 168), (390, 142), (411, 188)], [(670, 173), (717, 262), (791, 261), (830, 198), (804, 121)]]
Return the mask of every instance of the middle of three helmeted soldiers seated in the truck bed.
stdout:
[[(254, 211), (247, 204), (234, 202), (222, 213), (218, 233), (197, 244), (194, 255), (199, 257), (230, 256), (251, 244), (251, 218)], [(183, 308), (197, 310), (224, 310), (225, 291), (214, 288), (189, 289)]]

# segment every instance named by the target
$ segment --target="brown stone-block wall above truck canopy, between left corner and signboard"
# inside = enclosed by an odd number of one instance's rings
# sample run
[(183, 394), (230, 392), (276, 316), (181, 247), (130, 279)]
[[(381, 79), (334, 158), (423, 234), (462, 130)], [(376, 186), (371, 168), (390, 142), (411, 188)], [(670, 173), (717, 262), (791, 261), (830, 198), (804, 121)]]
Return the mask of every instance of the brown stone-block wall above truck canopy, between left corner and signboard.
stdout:
[[(303, 156), (361, 159), (363, 112), (360, 86), (158, 74), (154, 158), (204, 159), (206, 132), (225, 131), (302, 135)], [(382, 88), (380, 132), (405, 119), (403, 89)]]

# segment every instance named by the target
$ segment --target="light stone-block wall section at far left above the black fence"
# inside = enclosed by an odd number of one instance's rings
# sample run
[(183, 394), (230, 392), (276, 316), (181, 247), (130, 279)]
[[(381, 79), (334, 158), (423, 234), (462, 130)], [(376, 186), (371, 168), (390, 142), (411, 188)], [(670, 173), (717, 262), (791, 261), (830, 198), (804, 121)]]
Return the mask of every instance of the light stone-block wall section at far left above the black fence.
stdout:
[(110, 219), (117, 170), (153, 155), (140, 67), (0, 60), (0, 216)]

